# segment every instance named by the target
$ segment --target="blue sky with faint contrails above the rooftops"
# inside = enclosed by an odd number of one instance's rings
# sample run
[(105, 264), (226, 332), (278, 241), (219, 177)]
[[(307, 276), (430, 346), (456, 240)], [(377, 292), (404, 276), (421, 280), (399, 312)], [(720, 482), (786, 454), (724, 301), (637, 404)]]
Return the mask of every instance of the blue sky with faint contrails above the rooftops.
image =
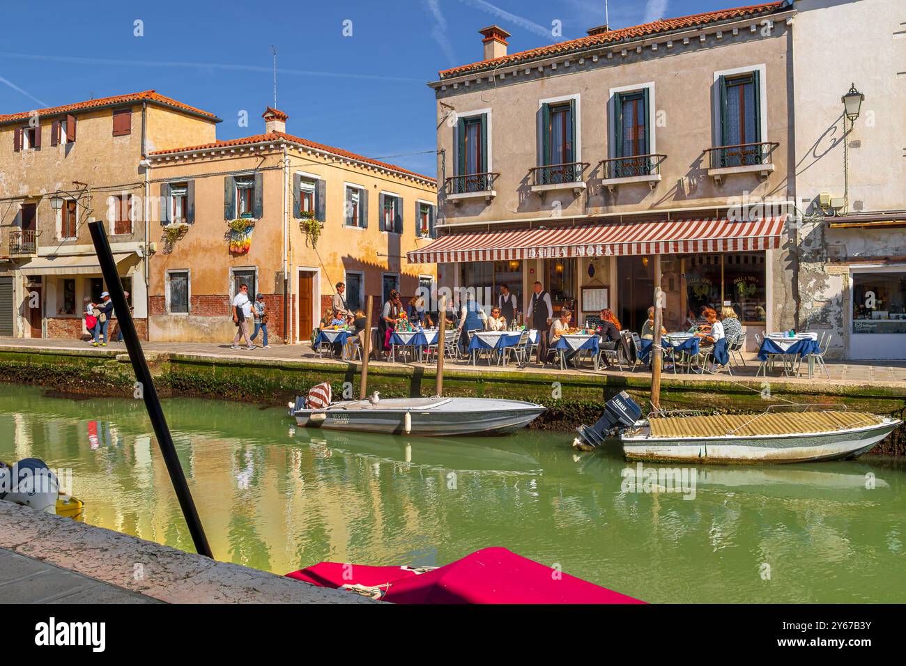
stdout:
[[(611, 0), (610, 23), (747, 4), (756, 2)], [(515, 53), (604, 22), (603, 0), (51, 0), (37, 17), (33, 4), (0, 0), (0, 12), (5, 25), (20, 26), (0, 43), (0, 113), (155, 89), (223, 118), (219, 139), (259, 133), (274, 99), (273, 44), (287, 131), (429, 175), (435, 156), (415, 154), (436, 145), (425, 83), (440, 69), (481, 60), (478, 28), (504, 27)], [(134, 34), (136, 20), (143, 36)], [(555, 20), (562, 37), (551, 34)], [(352, 36), (343, 35), (346, 21)], [(244, 110), (248, 127), (238, 123)]]

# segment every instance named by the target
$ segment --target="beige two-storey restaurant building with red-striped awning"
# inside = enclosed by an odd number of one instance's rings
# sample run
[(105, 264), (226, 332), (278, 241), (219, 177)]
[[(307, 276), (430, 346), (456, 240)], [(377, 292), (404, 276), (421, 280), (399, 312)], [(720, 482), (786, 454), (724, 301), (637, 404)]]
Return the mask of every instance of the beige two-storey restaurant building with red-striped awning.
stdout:
[[(749, 332), (795, 325), (788, 3), (610, 30), (439, 72), (439, 239), (410, 253), (439, 283), (525, 312), (535, 280), (584, 323), (638, 332), (731, 304)], [(767, 204), (767, 206), (765, 205)]]

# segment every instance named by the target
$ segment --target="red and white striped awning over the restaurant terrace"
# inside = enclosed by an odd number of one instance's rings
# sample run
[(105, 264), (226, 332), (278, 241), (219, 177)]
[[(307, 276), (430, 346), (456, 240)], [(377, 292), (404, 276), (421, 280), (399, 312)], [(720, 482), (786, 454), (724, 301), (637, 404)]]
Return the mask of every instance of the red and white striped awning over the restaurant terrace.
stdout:
[(670, 219), (452, 233), (407, 253), (410, 264), (545, 259), (562, 256), (672, 255), (775, 249), (786, 215), (757, 220)]

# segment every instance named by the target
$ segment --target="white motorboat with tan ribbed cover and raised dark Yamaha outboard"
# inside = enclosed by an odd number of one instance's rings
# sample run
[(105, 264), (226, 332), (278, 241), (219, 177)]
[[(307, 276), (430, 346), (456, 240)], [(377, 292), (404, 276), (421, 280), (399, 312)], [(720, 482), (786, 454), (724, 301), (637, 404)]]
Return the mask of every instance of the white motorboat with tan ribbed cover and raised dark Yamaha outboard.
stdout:
[(688, 463), (786, 463), (855, 458), (901, 420), (835, 405), (772, 406), (755, 415), (702, 415), (641, 409), (625, 391), (608, 401), (593, 427), (581, 426), (576, 449), (616, 435), (630, 460)]

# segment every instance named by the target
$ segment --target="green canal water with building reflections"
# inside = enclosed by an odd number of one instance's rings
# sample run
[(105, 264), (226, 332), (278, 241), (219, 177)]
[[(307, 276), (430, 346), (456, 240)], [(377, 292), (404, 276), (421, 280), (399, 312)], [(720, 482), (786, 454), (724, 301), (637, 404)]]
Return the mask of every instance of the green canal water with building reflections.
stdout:
[[(419, 439), (296, 429), (284, 408), (164, 411), (218, 559), (439, 565), (502, 545), (645, 601), (906, 601), (906, 466), (696, 468), (631, 483), (568, 433)], [(141, 401), (0, 384), (0, 459), (72, 468), (85, 520), (192, 550)], [(647, 466), (658, 471), (657, 466)]]

